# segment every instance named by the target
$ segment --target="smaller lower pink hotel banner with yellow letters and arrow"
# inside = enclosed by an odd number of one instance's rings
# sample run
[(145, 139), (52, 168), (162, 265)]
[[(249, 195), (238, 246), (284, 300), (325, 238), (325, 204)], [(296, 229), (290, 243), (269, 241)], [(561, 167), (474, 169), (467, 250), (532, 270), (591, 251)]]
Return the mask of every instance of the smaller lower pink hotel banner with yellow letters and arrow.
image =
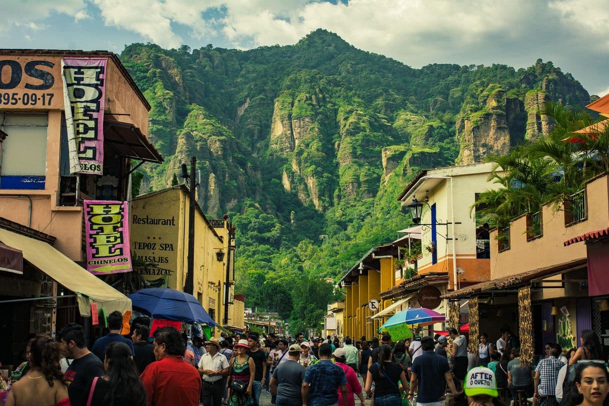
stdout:
[(126, 201), (85, 200), (86, 270), (94, 275), (132, 270)]

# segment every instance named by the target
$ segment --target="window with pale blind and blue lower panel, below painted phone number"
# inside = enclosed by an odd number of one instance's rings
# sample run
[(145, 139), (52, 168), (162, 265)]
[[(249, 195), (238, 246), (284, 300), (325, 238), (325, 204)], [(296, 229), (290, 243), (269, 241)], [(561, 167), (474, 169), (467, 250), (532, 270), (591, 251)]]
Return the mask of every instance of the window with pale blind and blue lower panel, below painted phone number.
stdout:
[(48, 114), (0, 113), (0, 189), (44, 189)]

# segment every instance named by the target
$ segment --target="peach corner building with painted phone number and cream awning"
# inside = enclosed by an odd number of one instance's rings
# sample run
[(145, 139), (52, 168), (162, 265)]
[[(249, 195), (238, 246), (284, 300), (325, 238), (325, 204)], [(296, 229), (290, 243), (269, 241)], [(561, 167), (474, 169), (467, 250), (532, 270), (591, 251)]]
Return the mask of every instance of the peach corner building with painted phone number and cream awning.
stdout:
[(54, 335), (79, 321), (89, 335), (95, 305), (98, 315), (131, 310), (82, 266), (83, 201), (128, 200), (133, 167), (163, 158), (146, 137), (150, 105), (111, 52), (0, 49), (0, 84), (0, 250), (23, 263), (21, 271), (0, 264), (0, 324), (15, 346), (0, 362), (10, 365), (30, 332)]

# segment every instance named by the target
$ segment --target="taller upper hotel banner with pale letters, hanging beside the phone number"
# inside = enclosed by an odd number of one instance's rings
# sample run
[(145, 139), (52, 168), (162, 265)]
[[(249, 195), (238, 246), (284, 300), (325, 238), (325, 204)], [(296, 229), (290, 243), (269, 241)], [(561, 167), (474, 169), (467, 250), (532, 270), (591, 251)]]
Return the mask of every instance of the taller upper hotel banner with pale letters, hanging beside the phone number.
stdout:
[(102, 175), (108, 58), (63, 58), (63, 99), (71, 173)]

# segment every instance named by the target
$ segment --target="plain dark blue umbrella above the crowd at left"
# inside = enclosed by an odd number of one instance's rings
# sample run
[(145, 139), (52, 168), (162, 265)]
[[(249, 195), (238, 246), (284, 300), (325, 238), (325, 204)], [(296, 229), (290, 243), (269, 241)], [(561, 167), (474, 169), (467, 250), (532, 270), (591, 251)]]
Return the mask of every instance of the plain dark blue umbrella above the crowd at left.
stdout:
[(164, 287), (141, 289), (128, 297), (134, 309), (153, 318), (216, 326), (199, 301), (189, 293)]

